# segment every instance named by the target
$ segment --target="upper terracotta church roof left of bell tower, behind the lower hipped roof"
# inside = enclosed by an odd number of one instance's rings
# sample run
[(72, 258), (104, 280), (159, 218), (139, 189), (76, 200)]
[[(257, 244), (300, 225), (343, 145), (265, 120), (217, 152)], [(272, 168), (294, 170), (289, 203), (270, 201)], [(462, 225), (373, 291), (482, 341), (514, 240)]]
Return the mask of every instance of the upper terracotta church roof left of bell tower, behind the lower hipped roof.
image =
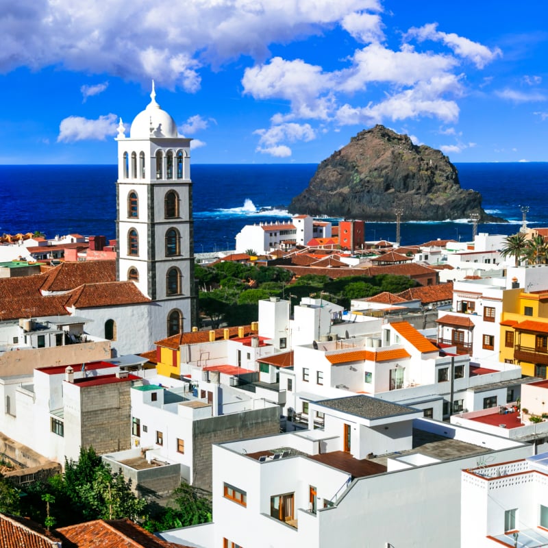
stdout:
[(82, 284), (114, 282), (116, 261), (64, 262), (45, 275), (42, 291), (69, 291)]

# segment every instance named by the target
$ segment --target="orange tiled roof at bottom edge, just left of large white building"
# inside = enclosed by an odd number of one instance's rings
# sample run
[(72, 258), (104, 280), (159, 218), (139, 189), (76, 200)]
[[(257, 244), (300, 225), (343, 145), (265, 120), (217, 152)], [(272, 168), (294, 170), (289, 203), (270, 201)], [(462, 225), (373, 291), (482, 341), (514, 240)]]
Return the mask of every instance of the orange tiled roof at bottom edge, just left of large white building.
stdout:
[(61, 527), (55, 533), (63, 539), (62, 548), (188, 548), (162, 540), (129, 519), (98, 519)]

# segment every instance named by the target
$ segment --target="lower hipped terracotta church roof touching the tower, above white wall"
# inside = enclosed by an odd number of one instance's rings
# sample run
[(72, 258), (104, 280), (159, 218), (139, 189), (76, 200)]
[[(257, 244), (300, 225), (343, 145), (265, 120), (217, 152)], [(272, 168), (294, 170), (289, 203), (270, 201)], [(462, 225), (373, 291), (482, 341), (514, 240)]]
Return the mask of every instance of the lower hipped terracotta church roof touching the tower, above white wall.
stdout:
[(150, 302), (133, 282), (106, 282), (84, 284), (69, 293), (65, 306), (74, 308), (95, 308)]

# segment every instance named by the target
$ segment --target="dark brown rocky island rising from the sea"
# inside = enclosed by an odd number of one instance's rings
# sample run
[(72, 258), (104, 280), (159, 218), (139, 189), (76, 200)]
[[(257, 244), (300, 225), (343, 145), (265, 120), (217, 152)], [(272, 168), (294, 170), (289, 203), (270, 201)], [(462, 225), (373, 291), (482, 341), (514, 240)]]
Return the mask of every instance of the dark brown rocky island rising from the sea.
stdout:
[(460, 187), (443, 152), (414, 145), (382, 125), (351, 138), (319, 165), (308, 188), (293, 198), (291, 213), (365, 221), (445, 221), (479, 214), (480, 222), (505, 222), (486, 214), (482, 195)]

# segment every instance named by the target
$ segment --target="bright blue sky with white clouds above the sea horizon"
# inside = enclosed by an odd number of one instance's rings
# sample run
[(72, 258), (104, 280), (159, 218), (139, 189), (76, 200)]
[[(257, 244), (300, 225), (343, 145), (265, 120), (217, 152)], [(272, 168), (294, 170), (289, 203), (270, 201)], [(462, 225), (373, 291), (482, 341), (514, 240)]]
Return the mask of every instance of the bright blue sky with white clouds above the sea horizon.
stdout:
[(99, 4), (3, 6), (1, 164), (116, 163), (151, 79), (195, 163), (316, 163), (376, 123), (453, 162), (548, 161), (545, 0)]

